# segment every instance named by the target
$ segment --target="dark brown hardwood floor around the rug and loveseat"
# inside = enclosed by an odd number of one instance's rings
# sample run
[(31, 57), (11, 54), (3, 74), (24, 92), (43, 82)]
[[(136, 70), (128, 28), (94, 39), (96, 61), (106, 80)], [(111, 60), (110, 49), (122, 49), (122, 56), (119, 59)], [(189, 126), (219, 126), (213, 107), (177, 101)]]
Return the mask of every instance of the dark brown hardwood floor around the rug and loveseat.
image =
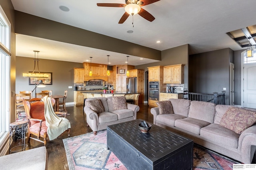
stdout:
[[(139, 104), (139, 107), (140, 111), (137, 113), (137, 119), (143, 119), (153, 123), (153, 115), (150, 113), (151, 107), (149, 107), (148, 104)], [(83, 113), (83, 106), (67, 106), (66, 108), (68, 113), (70, 113), (70, 115), (67, 115), (66, 117), (71, 123), (70, 137), (92, 132), (92, 129), (86, 126), (86, 115)], [(62, 139), (67, 137), (68, 133), (63, 133), (57, 139), (47, 141), (46, 148), (48, 152), (48, 170), (69, 169), (66, 151), (62, 141)], [(13, 142), (11, 147), (18, 145), (18, 143), (19, 141)], [(31, 139), (26, 150), (42, 146), (44, 146), (43, 143)]]

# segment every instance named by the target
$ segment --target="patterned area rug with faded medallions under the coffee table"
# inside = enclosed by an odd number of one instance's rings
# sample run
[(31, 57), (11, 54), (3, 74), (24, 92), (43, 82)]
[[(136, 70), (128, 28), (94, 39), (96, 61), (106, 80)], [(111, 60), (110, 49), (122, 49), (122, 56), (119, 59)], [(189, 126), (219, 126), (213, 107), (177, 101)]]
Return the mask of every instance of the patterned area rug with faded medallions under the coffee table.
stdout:
[[(120, 160), (107, 150), (106, 130), (63, 139), (70, 170), (126, 170)], [(194, 145), (193, 170), (232, 170), (239, 164), (215, 152)]]

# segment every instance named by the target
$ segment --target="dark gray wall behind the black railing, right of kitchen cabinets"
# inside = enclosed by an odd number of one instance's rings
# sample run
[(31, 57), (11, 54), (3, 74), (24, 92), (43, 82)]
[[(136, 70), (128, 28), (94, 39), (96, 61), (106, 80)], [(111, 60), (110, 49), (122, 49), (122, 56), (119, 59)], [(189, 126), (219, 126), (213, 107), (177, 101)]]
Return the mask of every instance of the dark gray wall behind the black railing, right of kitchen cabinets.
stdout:
[(189, 56), (189, 92), (212, 94), (226, 88), (225, 102), (230, 103), (230, 62), (234, 52), (220, 49)]

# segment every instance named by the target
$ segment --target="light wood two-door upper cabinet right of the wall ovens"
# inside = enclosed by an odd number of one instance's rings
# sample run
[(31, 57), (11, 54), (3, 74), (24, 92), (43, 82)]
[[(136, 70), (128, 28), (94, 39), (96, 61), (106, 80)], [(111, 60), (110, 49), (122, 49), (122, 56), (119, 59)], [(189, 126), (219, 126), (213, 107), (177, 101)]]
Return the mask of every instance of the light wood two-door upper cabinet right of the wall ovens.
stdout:
[(184, 64), (164, 66), (164, 84), (184, 84)]

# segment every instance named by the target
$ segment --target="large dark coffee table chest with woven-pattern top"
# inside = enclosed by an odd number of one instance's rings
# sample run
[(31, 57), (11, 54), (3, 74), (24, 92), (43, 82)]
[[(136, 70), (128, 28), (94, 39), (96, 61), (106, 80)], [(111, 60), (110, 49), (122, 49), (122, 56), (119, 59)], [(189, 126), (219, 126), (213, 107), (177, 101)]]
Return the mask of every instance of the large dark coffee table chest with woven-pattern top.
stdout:
[[(109, 125), (107, 147), (128, 170), (191, 170), (193, 141), (152, 125), (142, 133), (142, 119)], [(148, 123), (148, 122), (147, 122)]]

